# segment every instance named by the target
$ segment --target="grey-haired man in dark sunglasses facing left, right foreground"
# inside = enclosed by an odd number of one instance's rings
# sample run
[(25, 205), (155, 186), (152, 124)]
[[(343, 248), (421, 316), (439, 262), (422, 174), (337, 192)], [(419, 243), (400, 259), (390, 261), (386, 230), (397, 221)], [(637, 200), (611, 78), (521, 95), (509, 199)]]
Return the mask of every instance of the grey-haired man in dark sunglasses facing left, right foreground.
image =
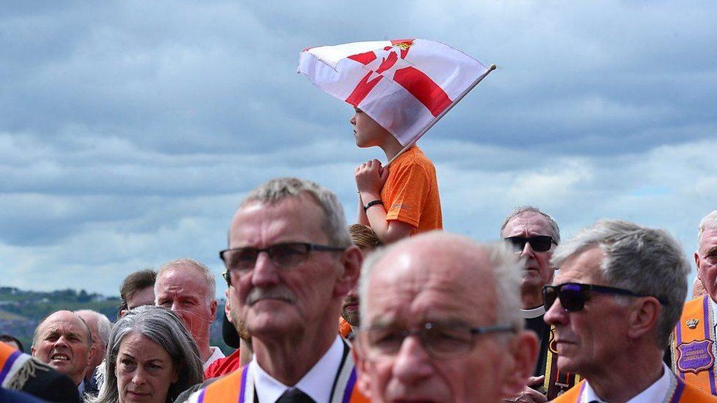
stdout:
[(689, 272), (668, 232), (600, 221), (552, 262), (559, 270), (543, 299), (558, 368), (584, 377), (554, 402), (717, 402), (663, 363)]

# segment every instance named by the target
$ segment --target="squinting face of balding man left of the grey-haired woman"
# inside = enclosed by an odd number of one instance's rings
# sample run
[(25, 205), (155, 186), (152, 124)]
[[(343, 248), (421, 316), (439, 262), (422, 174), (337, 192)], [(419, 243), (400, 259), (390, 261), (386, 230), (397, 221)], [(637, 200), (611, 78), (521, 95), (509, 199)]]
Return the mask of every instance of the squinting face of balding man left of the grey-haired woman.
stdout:
[(74, 313), (60, 310), (40, 324), (32, 356), (80, 384), (92, 359), (87, 327)]

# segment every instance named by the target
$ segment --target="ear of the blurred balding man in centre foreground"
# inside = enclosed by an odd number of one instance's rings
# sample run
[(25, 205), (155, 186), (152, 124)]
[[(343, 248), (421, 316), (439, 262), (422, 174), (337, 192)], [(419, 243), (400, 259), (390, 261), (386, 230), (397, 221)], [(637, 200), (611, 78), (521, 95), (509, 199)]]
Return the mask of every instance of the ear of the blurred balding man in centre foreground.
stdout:
[(531, 331), (520, 331), (510, 341), (509, 354), (513, 358), (513, 368), (508, 368), (503, 383), (503, 396), (515, 396), (528, 383), (538, 359), (538, 337)]

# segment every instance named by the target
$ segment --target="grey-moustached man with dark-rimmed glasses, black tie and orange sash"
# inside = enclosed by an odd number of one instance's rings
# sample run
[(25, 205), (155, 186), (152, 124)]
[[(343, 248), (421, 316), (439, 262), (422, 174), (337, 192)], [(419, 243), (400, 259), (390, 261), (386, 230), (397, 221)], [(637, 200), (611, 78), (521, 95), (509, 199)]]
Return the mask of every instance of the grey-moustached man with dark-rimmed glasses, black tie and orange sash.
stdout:
[(301, 179), (262, 184), (234, 214), (220, 256), (254, 357), (190, 402), (366, 402), (336, 331), (361, 266), (336, 195)]

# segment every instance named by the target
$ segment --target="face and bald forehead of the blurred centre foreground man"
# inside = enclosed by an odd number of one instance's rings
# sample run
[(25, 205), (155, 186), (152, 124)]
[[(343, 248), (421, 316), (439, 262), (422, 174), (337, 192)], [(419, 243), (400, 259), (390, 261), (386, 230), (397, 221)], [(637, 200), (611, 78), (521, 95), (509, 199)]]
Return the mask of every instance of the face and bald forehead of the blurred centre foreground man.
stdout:
[[(465, 260), (452, 260), (438, 250), (412, 256), (415, 252), (386, 256), (374, 267), (364, 312), (366, 328), (397, 333), (424, 328), (426, 323), (473, 328), (500, 321), (495, 314), (495, 284), (485, 272), (466, 270)], [(480, 264), (488, 265), (487, 258), (471, 262)], [(501, 336), (507, 338), (506, 344)], [(534, 352), (536, 341), (528, 336)], [(476, 336), (473, 349), (468, 347), (465, 354), (435, 359), (416, 336), (405, 338), (393, 356), (371, 356), (368, 333), (362, 333), (356, 350), (359, 385), (374, 403), (498, 402), (508, 393), (508, 379), (520, 372), (511, 337)], [(532, 370), (533, 358), (524, 360), (525, 376)], [(518, 387), (522, 385), (518, 382)]]

